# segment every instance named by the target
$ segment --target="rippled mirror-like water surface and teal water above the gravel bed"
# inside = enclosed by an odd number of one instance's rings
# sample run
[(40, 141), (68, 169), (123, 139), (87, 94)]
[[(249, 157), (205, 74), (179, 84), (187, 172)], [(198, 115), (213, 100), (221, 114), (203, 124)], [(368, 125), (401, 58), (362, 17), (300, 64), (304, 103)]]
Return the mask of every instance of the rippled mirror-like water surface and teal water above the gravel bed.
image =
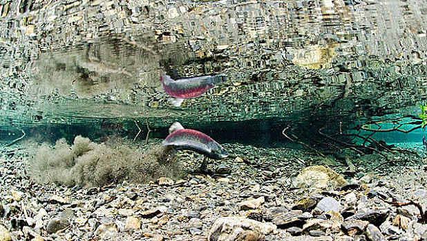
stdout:
[[(350, 141), (365, 124), (417, 121), (426, 103), (426, 1), (24, 3), (0, 3), (2, 145), (22, 133), (134, 138), (147, 120), (158, 138), (180, 121), (220, 143), (281, 146), (283, 129)], [(174, 107), (162, 72), (227, 81)]]

